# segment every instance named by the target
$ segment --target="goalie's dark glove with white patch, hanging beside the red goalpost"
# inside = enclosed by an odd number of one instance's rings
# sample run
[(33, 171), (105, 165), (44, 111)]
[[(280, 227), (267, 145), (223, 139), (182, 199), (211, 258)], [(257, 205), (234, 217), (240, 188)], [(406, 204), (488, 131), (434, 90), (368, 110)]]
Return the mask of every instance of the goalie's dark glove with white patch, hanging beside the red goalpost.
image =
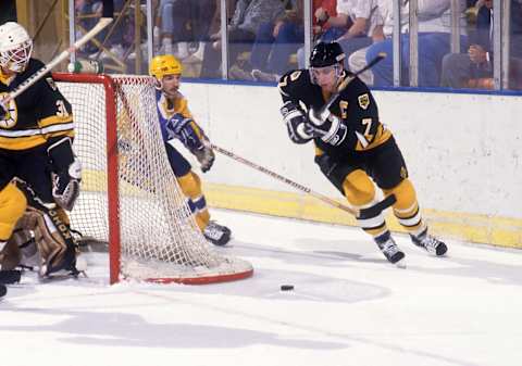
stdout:
[(71, 211), (79, 195), (82, 163), (74, 156), (69, 137), (52, 143), (47, 149), (47, 153), (53, 167), (52, 197), (59, 206)]

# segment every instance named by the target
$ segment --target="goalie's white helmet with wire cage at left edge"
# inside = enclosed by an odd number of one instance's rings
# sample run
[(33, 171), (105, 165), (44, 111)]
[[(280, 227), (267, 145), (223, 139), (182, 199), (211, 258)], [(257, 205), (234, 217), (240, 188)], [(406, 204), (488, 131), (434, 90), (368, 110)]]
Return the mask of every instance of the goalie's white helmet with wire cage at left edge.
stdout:
[(33, 40), (18, 23), (0, 25), (0, 65), (15, 73), (22, 73), (29, 62)]

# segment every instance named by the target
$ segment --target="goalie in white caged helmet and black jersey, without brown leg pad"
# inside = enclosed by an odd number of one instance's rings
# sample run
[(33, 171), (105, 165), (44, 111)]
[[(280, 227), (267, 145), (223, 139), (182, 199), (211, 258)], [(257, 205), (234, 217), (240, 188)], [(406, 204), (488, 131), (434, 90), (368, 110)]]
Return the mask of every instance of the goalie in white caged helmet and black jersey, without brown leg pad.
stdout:
[[(0, 26), (0, 251), (27, 209), (27, 199), (14, 184), (20, 178), (42, 204), (69, 225), (79, 194), (82, 167), (73, 153), (74, 125), (71, 104), (57, 88), (51, 74), (14, 99), (9, 93), (44, 67), (32, 59), (33, 40), (17, 23)], [(70, 263), (52, 268), (74, 267)]]

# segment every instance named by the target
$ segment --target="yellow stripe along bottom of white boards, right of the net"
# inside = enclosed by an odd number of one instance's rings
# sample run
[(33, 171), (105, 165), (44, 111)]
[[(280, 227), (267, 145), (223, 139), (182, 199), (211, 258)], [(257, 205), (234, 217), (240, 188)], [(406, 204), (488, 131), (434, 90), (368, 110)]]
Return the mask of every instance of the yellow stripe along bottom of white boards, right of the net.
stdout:
[[(357, 226), (349, 214), (303, 193), (208, 182), (203, 192), (211, 207)], [(343, 198), (338, 201), (347, 203)], [(445, 239), (522, 249), (522, 219), (435, 210), (422, 210), (422, 214), (431, 232)], [(389, 210), (386, 223), (390, 230), (406, 232)]]

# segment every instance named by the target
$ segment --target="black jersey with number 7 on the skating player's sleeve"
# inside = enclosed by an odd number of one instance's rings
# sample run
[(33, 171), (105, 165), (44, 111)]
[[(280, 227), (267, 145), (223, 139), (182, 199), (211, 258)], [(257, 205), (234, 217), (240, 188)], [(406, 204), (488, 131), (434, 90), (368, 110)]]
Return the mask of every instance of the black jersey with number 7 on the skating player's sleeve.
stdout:
[[(341, 77), (351, 76), (343, 71)], [(328, 100), (321, 87), (313, 84), (308, 70), (295, 70), (279, 79), (278, 89), (283, 102), (291, 101), (307, 112), (310, 108), (319, 111)], [(377, 104), (364, 83), (355, 78), (332, 103), (330, 111), (338, 116), (347, 134), (341, 141), (325, 142), (314, 138), (315, 146), (331, 156), (346, 155), (374, 149), (391, 136), (391, 132), (378, 119)]]

